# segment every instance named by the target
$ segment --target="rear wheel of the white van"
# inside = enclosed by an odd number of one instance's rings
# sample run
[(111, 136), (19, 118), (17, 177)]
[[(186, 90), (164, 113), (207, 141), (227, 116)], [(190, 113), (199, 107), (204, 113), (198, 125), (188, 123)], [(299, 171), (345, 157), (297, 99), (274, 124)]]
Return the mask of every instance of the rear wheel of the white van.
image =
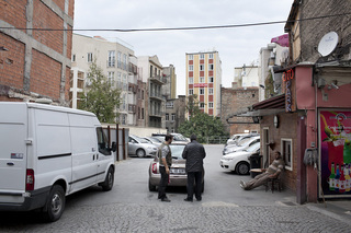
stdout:
[(65, 190), (60, 185), (55, 185), (46, 201), (43, 217), (45, 221), (55, 222), (61, 217), (66, 205)]

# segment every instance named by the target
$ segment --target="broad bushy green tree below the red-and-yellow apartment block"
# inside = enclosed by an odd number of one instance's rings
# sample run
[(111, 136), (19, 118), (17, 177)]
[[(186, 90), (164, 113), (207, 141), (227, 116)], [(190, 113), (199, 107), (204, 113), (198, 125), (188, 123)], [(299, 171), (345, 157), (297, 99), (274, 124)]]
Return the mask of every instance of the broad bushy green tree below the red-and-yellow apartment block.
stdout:
[(207, 139), (212, 137), (227, 138), (228, 132), (225, 130), (220, 119), (203, 113), (199, 108), (199, 101), (196, 97), (196, 95), (192, 96), (191, 101), (188, 102), (186, 109), (192, 110), (193, 114), (189, 120), (185, 120), (180, 125), (179, 132), (186, 137), (194, 133), (197, 137), (197, 141), (201, 143), (207, 142)]

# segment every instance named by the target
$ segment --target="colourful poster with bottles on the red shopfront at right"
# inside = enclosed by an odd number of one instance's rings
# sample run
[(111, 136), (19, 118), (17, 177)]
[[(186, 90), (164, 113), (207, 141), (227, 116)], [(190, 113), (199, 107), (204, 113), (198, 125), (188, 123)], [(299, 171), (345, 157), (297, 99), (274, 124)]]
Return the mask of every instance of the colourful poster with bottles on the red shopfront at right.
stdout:
[(320, 110), (319, 140), (322, 194), (351, 197), (351, 112)]

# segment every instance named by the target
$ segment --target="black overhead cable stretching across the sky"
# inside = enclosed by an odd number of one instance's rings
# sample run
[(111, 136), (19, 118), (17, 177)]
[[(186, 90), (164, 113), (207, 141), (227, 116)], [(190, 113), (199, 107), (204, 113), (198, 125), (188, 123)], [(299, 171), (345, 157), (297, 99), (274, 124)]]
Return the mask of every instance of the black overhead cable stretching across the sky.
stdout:
[(120, 33), (132, 33), (132, 32), (161, 32), (161, 31), (194, 31), (194, 30), (216, 30), (216, 28), (234, 28), (234, 27), (249, 27), (249, 26), (262, 26), (262, 25), (271, 25), (271, 24), (282, 24), (282, 23), (295, 23), (302, 21), (312, 21), (312, 20), (320, 20), (326, 18), (337, 18), (337, 16), (344, 16), (350, 15), (351, 13), (342, 13), (342, 14), (332, 14), (332, 15), (322, 15), (322, 16), (315, 16), (315, 18), (307, 18), (301, 20), (293, 20), (293, 21), (272, 21), (272, 22), (263, 22), (263, 23), (247, 23), (247, 24), (233, 24), (233, 25), (215, 25), (215, 26), (189, 26), (189, 27), (161, 27), (161, 28), (131, 28), (131, 30), (76, 30), (76, 28), (38, 28), (38, 27), (0, 27), (0, 30), (30, 30), (30, 31), (71, 31), (71, 32), (120, 32)]

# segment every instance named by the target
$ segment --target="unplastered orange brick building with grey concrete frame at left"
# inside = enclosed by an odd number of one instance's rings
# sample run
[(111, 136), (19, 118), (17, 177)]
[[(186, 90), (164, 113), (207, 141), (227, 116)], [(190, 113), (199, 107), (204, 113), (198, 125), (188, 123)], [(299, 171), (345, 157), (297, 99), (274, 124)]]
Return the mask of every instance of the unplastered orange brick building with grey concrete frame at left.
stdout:
[(73, 8), (75, 0), (0, 0), (0, 101), (69, 105)]

